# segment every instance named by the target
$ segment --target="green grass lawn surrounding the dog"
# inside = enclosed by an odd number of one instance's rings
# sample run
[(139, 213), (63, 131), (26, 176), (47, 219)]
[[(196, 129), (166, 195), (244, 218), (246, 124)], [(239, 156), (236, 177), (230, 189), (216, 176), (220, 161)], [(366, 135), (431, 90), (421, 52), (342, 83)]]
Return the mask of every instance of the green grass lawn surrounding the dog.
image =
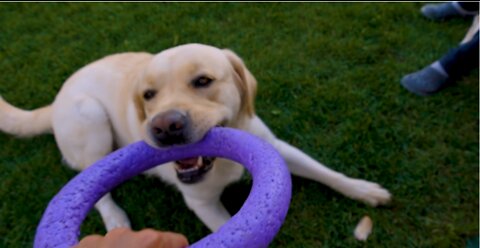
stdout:
[[(2, 3), (0, 94), (50, 103), (81, 66), (124, 51), (190, 42), (237, 52), (259, 82), (257, 112), (284, 140), (349, 176), (379, 182), (390, 206), (371, 208), (293, 178), (292, 204), (272, 247), (465, 247), (477, 236), (478, 70), (431, 97), (400, 78), (458, 44), (469, 20), (432, 22), (422, 3)], [(32, 245), (49, 200), (76, 173), (54, 138), (0, 134), (0, 247)], [(227, 188), (232, 212), (248, 178)], [(136, 177), (113, 192), (133, 228), (208, 230), (181, 195)], [(367, 243), (353, 238), (368, 214)], [(92, 211), (84, 233), (104, 233)]]

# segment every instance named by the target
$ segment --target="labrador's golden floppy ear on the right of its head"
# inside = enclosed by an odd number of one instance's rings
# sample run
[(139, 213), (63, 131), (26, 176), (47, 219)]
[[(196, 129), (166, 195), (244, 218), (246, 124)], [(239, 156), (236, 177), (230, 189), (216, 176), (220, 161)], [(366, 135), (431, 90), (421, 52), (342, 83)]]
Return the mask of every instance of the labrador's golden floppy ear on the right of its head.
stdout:
[(257, 80), (252, 73), (247, 69), (242, 59), (238, 57), (233, 51), (223, 49), (235, 73), (235, 81), (240, 90), (242, 107), (240, 113), (245, 113), (252, 117), (255, 114), (255, 94), (257, 92)]

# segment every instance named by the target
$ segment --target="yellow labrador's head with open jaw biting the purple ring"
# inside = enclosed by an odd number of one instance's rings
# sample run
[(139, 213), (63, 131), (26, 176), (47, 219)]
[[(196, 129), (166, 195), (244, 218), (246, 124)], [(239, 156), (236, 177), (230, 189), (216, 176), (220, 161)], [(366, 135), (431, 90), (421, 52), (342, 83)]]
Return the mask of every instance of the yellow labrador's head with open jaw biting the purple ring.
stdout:
[[(154, 56), (134, 102), (145, 140), (168, 147), (197, 142), (215, 126), (238, 127), (254, 115), (255, 90), (255, 78), (235, 53), (188, 44)], [(177, 161), (179, 178), (198, 181), (212, 160)]]

